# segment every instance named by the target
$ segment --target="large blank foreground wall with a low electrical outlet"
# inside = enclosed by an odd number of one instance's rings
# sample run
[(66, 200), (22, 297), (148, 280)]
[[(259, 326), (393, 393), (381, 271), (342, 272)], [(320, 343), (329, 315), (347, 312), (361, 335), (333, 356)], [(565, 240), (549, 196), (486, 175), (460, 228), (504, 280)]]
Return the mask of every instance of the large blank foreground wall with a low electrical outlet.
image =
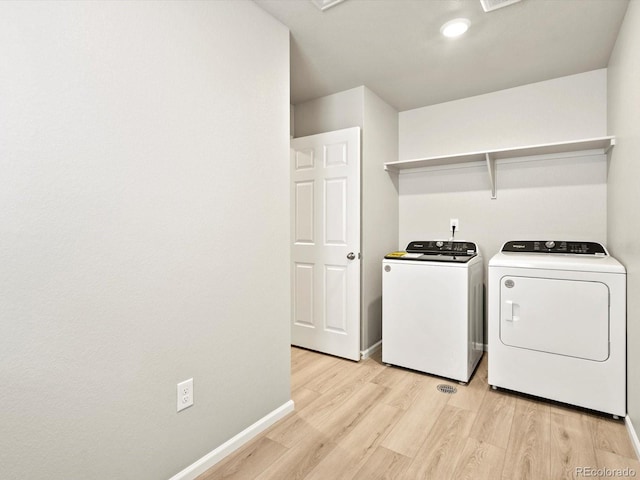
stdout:
[(247, 1), (0, 2), (1, 478), (168, 478), (289, 400), (288, 48)]

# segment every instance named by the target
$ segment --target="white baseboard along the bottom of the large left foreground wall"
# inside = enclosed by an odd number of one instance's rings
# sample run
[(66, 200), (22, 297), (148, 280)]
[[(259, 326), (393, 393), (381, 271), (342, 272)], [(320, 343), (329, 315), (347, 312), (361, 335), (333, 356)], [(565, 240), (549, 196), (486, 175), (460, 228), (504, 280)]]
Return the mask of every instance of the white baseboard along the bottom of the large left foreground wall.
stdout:
[(198, 475), (202, 475), (204, 472), (213, 467), (216, 463), (223, 460), (227, 455), (230, 455), (238, 448), (243, 446), (249, 440), (260, 434), (278, 420), (284, 418), (289, 413), (293, 412), (294, 404), (293, 400), (289, 400), (287, 403), (276, 408), (274, 411), (268, 413), (253, 425), (245, 428), (242, 432), (235, 437), (227, 440), (215, 450), (207, 453), (204, 457), (196, 460), (181, 472), (175, 474), (169, 480), (194, 480)]

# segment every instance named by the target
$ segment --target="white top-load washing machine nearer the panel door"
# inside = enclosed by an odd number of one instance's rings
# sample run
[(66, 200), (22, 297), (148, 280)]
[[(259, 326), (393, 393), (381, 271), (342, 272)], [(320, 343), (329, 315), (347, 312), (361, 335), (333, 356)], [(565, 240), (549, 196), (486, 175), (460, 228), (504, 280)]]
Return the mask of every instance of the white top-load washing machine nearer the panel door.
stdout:
[(382, 268), (382, 361), (468, 382), (483, 352), (476, 244), (411, 242)]

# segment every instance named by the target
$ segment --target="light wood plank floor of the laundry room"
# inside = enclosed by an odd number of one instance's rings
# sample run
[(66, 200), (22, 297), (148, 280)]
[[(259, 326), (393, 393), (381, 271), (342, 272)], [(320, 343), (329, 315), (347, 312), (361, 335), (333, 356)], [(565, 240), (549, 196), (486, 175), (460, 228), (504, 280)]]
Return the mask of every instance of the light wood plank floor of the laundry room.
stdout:
[(291, 366), (295, 412), (198, 480), (605, 479), (625, 468), (640, 477), (622, 420), (491, 390), (486, 354), (467, 386), (379, 357), (292, 348)]

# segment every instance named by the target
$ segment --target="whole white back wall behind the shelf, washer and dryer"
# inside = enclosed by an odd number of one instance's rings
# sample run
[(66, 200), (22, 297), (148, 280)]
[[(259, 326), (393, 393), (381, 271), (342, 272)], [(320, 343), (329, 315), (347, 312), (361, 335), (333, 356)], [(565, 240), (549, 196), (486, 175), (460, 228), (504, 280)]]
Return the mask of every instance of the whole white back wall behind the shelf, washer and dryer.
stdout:
[[(400, 158), (604, 136), (606, 70), (400, 113)], [(515, 239), (606, 242), (604, 155), (563, 155), (497, 165), (497, 199), (484, 165), (400, 175), (399, 248), (412, 240), (478, 243), (485, 264)]]

